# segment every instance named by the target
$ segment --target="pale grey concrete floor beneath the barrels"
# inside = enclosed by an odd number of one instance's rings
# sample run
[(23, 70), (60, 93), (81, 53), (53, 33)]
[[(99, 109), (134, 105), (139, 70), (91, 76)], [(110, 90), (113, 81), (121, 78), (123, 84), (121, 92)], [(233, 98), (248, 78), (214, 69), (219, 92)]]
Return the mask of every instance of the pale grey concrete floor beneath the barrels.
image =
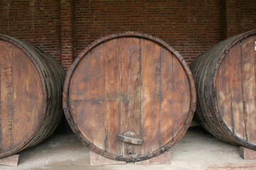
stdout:
[(172, 170), (242, 170), (255, 169), (256, 160), (243, 160), (239, 147), (230, 145), (209, 135), (201, 127), (190, 128), (186, 135), (171, 148), (169, 165), (123, 165), (90, 166), (89, 151), (80, 144), (75, 135), (55, 135), (45, 142), (20, 152), (18, 166), (0, 166), (0, 169), (172, 169)]

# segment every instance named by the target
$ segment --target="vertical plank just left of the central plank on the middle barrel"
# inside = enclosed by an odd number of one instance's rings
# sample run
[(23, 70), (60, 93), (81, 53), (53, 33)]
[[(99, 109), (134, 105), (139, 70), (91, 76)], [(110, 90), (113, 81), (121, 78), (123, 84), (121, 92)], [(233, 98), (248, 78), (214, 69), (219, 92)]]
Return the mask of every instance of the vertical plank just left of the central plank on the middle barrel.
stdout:
[(117, 140), (117, 134), (121, 132), (120, 118), (120, 82), (119, 82), (119, 48), (118, 40), (110, 40), (104, 46), (104, 68), (105, 68), (105, 141), (107, 152), (122, 154), (121, 146)]

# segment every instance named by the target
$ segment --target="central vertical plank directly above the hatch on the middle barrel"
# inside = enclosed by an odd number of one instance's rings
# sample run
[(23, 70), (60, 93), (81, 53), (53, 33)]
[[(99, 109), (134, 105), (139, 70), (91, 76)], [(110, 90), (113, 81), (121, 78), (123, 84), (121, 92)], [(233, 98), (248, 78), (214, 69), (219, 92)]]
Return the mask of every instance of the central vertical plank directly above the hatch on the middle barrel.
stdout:
[(140, 72), (139, 38), (119, 38), (119, 88), (121, 134), (140, 132)]

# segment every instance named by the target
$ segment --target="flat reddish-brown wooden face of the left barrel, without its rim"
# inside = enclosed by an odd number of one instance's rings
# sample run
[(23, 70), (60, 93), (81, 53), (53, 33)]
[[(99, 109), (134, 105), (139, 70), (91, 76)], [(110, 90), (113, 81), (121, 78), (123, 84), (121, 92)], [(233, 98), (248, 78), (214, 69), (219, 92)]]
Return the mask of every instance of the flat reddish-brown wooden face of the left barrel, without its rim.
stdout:
[(3, 153), (21, 145), (36, 129), (41, 121), (43, 89), (36, 67), (22, 50), (0, 41), (0, 52)]

